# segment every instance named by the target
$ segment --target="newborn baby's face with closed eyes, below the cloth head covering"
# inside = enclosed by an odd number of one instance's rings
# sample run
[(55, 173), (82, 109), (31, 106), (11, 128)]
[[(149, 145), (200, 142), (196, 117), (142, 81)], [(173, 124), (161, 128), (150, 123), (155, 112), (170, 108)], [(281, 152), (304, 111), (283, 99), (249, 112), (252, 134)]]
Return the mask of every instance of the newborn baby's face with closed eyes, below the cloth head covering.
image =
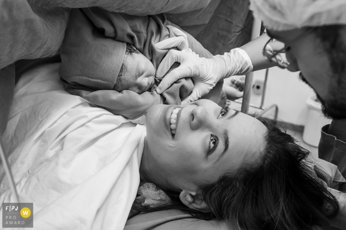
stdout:
[(130, 90), (141, 94), (154, 84), (155, 68), (153, 64), (133, 45), (126, 44), (125, 58), (121, 66), (114, 90)]

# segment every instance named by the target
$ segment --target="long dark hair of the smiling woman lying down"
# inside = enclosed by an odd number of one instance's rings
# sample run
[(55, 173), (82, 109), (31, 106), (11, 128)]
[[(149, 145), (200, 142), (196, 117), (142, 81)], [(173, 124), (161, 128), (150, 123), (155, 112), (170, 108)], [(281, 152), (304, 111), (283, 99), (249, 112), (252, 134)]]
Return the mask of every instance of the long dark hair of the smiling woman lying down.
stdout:
[[(179, 209), (199, 219), (222, 220), (244, 230), (307, 230), (328, 225), (338, 214), (339, 203), (314, 172), (307, 159), (309, 152), (269, 120), (253, 116), (267, 128), (264, 149), (255, 163), (199, 188), (210, 212), (187, 208), (179, 199), (179, 191), (167, 189), (163, 191), (171, 203), (147, 209), (135, 202), (132, 208), (140, 212)], [(323, 169), (318, 174), (329, 182)], [(331, 214), (323, 211), (325, 202), (333, 207)]]

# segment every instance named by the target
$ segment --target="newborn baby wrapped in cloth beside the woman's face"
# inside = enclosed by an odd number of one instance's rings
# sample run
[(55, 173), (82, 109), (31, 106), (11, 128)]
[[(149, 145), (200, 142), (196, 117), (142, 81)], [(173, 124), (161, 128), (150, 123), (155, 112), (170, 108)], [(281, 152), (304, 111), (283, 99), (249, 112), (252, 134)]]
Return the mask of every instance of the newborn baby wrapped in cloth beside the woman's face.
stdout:
[[(164, 14), (131, 16), (91, 7), (73, 9), (61, 47), (59, 74), (67, 92), (143, 124), (155, 104), (180, 104), (193, 90), (190, 78), (176, 81), (161, 95), (155, 72), (168, 50), (155, 44), (175, 34)], [(192, 36), (190, 48), (210, 54)]]

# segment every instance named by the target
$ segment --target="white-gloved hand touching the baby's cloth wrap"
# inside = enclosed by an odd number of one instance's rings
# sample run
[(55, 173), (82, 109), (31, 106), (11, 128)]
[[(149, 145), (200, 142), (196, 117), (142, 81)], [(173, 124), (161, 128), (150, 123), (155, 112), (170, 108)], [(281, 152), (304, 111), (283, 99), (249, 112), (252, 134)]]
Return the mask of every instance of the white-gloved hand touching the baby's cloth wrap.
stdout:
[[(173, 47), (173, 44), (167, 42), (167, 40), (164, 40), (166, 41), (165, 44), (162, 44), (164, 41), (157, 43), (156, 47), (159, 49)], [(174, 62), (180, 63), (180, 66), (165, 76)], [(235, 74), (249, 73), (252, 68), (248, 54), (240, 48), (233, 49), (229, 53), (224, 53), (224, 55), (216, 55), (211, 59), (200, 58), (189, 48), (184, 48), (181, 51), (170, 50), (156, 71), (156, 77), (162, 78), (165, 76), (156, 91), (161, 94), (178, 79), (191, 77), (194, 82), (193, 92), (182, 101), (182, 103), (187, 103), (207, 94), (220, 79)]]

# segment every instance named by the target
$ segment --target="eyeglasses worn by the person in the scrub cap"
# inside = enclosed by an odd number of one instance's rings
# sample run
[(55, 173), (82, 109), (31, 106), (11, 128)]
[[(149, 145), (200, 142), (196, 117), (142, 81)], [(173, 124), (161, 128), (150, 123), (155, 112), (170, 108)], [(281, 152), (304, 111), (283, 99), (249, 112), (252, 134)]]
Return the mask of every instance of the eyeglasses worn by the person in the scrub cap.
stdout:
[(292, 45), (292, 43), (296, 42), (298, 39), (303, 37), (303, 35), (306, 35), (306, 33), (310, 32), (311, 29), (306, 30), (305, 32), (298, 35), (295, 39), (287, 43), (284, 48), (274, 51), (273, 48), (270, 46), (270, 42), (276, 42), (274, 41), (274, 38), (270, 38), (267, 43), (265, 43), (263, 47), (262, 54), (263, 56), (271, 63), (274, 63), (276, 66), (280, 68), (287, 68), (287, 66), (290, 65), (290, 63), (287, 61), (286, 56), (281, 55), (282, 53), (285, 53), (285, 50)]

